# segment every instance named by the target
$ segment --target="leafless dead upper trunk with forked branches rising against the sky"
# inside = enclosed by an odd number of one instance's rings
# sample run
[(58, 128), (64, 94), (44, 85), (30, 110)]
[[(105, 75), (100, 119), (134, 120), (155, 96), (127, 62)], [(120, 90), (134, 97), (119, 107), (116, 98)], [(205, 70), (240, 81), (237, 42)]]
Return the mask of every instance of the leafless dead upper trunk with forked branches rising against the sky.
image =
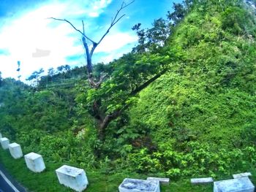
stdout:
[[(113, 26), (115, 26), (116, 23), (118, 23), (118, 21), (121, 20), (121, 18), (124, 18), (125, 14), (120, 16), (121, 10), (128, 7), (133, 2), (134, 1), (130, 1), (128, 4), (125, 3), (124, 1), (122, 2), (121, 7), (117, 10), (116, 15), (111, 20), (110, 26), (108, 27), (107, 31), (105, 31), (105, 34), (102, 35), (102, 37), (99, 39), (98, 42), (95, 42), (94, 40), (92, 40), (91, 38), (89, 38), (86, 35), (83, 20), (82, 20), (83, 31), (80, 31), (69, 20), (59, 19), (59, 18), (50, 18), (50, 19), (53, 19), (53, 20), (61, 20), (61, 21), (69, 23), (69, 25), (72, 26), (72, 28), (74, 28), (75, 31), (78, 31), (82, 35), (83, 47), (86, 50), (86, 69), (87, 69), (87, 74), (88, 74), (88, 81), (89, 81), (89, 84), (91, 85), (91, 88), (96, 88), (96, 89), (99, 88), (100, 85), (102, 85), (102, 82), (105, 80), (105, 77), (107, 76), (106, 74), (101, 74), (101, 76), (99, 77), (99, 80), (95, 80), (95, 78), (93, 77), (93, 75), (92, 75), (93, 66), (92, 66), (91, 58), (92, 58), (92, 55), (94, 54), (94, 50), (102, 42), (102, 40), (106, 37), (106, 35), (109, 33), (110, 29)], [(92, 44), (91, 49), (89, 49), (88, 42), (91, 42), (91, 44)]]

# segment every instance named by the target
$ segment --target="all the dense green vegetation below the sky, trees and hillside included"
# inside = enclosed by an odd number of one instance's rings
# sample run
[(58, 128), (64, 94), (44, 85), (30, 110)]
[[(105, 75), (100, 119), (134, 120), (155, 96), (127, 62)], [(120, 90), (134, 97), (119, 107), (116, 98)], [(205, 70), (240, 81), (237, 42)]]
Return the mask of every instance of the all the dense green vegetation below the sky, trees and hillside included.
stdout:
[[(84, 68), (35, 72), (36, 87), (0, 75), (1, 133), (23, 153), (42, 154), (45, 177), (61, 164), (86, 169), (91, 191), (114, 191), (124, 177), (148, 174), (176, 180), (166, 191), (210, 191), (181, 178), (255, 173), (255, 10), (238, 0), (174, 7), (152, 28), (132, 28), (139, 42), (131, 53), (94, 66), (94, 77), (107, 74), (99, 88), (90, 87)], [(34, 190), (7, 153), (0, 157)]]

